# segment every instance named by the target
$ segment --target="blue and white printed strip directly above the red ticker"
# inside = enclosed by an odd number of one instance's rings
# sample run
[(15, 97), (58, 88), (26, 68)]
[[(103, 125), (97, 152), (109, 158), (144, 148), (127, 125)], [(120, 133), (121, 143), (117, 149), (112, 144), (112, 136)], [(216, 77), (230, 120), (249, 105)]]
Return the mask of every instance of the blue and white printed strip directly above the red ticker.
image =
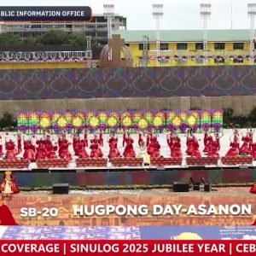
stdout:
[(183, 233), (193, 233), (187, 239), (256, 240), (256, 227), (0, 227), (1, 240), (178, 240)]

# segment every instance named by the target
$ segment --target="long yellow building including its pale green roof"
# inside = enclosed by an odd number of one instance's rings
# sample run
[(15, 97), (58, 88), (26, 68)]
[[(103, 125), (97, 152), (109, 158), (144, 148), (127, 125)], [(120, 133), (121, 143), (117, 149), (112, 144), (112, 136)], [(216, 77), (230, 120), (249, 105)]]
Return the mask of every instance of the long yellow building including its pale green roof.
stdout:
[[(120, 34), (131, 49), (134, 67), (145, 66), (143, 63), (147, 59), (147, 67), (157, 66), (155, 31), (130, 30), (114, 33)], [(207, 51), (203, 50), (203, 36), (202, 30), (160, 31), (160, 67), (251, 63), (249, 30), (208, 30)], [(147, 46), (148, 51), (145, 50)]]

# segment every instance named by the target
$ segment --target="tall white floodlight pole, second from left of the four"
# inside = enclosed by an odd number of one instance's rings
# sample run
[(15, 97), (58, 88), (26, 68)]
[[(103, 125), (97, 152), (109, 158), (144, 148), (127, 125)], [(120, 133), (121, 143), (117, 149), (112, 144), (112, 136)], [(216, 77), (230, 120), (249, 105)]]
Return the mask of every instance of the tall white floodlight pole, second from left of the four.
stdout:
[(153, 18), (156, 22), (156, 60), (157, 66), (160, 66), (160, 19), (164, 16), (164, 5), (161, 3), (154, 3), (153, 8)]

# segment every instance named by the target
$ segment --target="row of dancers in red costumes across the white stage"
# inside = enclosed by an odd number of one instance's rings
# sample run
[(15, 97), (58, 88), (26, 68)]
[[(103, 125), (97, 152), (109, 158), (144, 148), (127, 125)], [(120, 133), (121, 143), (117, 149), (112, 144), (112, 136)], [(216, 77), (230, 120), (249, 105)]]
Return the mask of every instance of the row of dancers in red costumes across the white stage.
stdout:
[[(122, 145), (124, 150), (121, 152), (119, 145), (119, 137), (112, 132), (108, 137), (107, 143), (109, 147), (108, 158), (135, 158), (140, 156), (149, 156), (152, 158), (160, 158), (160, 142), (158, 134), (154, 131), (138, 131), (137, 144), (140, 148), (139, 154), (136, 154), (134, 149), (134, 139), (131, 134), (124, 130)], [(19, 154), (25, 160), (38, 159), (67, 159), (73, 160), (70, 148), (73, 147), (74, 155), (79, 158), (102, 158), (102, 147), (104, 146), (103, 133), (98, 132), (93, 135), (91, 139), (90, 132), (84, 132), (81, 138), (79, 135), (73, 135), (70, 139), (64, 133), (55, 141), (53, 137), (47, 132), (44, 132), (44, 137), (37, 138), (32, 136), (25, 139), (24, 135), (19, 135), (17, 141), (12, 139), (5, 140), (6, 152), (3, 153), (3, 137), (0, 137), (0, 155), (5, 159), (16, 159)], [(219, 150), (221, 148), (220, 140), (223, 135), (215, 133), (212, 135), (208, 131), (204, 131), (204, 149), (200, 150), (200, 140), (195, 134), (189, 130), (186, 134), (186, 154), (191, 157), (200, 158), (203, 155), (208, 157), (219, 157)], [(168, 131), (166, 133), (166, 143), (170, 148), (170, 156), (172, 158), (182, 158), (182, 143), (177, 131)], [(241, 146), (240, 146), (240, 143)], [(89, 151), (90, 149), (90, 151)], [(253, 142), (253, 130), (247, 131), (246, 135), (240, 135), (237, 129), (234, 130), (233, 139), (230, 137), (230, 149), (225, 156), (238, 155), (252, 155), (253, 160), (256, 160), (256, 143)]]

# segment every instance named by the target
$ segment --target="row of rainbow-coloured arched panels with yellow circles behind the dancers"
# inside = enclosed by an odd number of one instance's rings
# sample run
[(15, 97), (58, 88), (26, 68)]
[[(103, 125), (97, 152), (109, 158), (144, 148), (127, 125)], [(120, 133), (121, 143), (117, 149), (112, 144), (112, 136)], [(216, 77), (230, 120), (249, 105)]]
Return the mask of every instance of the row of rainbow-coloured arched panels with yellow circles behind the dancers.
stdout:
[(221, 131), (222, 110), (192, 111), (66, 111), (66, 112), (25, 112), (17, 115), (20, 132), (42, 133), (48, 129), (52, 133), (84, 131), (118, 131), (127, 129), (176, 129), (185, 132), (189, 127), (194, 131)]

